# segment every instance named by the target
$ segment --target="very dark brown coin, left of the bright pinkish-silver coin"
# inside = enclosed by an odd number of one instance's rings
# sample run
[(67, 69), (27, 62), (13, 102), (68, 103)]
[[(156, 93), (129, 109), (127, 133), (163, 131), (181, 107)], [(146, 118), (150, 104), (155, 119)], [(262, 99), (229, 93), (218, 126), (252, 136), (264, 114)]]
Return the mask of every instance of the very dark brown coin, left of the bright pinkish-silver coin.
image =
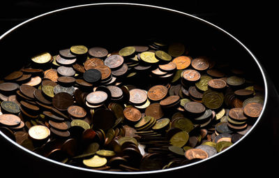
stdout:
[(52, 105), (57, 110), (67, 110), (69, 106), (73, 105), (74, 98), (68, 93), (61, 92), (52, 98)]

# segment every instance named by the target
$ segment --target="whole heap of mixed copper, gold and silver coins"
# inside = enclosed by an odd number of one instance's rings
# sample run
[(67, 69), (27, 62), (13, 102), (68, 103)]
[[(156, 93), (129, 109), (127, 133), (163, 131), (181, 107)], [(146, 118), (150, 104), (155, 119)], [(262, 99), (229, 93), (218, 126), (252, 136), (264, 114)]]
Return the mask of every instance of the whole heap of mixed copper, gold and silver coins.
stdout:
[(186, 165), (249, 131), (262, 84), (211, 47), (146, 44), (36, 54), (1, 80), (0, 131), (47, 158), (106, 171)]

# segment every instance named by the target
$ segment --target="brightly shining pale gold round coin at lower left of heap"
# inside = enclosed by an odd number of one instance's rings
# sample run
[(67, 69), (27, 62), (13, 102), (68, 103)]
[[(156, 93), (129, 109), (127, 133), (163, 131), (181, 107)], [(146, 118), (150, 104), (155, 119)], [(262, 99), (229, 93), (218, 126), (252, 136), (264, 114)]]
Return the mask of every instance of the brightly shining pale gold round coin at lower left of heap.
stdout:
[(29, 128), (28, 134), (33, 140), (45, 140), (50, 136), (50, 129), (41, 125), (32, 126)]

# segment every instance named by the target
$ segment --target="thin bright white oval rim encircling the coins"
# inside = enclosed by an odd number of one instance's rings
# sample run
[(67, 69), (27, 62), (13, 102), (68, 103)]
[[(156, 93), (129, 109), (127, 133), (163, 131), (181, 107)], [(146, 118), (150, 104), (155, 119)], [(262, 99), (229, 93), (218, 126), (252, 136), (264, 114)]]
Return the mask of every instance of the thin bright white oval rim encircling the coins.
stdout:
[(210, 158), (206, 158), (204, 160), (201, 160), (201, 161), (197, 161), (195, 163), (190, 163), (190, 164), (187, 164), (187, 165), (181, 165), (181, 166), (178, 166), (176, 168), (168, 168), (166, 170), (152, 170), (152, 171), (142, 171), (142, 172), (113, 172), (113, 171), (102, 171), (102, 170), (90, 170), (90, 169), (87, 169), (87, 168), (81, 168), (81, 167), (77, 167), (77, 166), (73, 166), (73, 165), (68, 165), (66, 163), (61, 163), (61, 162), (58, 162), (58, 161), (54, 161), (50, 158), (46, 158), (44, 156), (41, 156), (39, 154), (36, 154), (35, 152), (33, 151), (30, 151), (29, 149), (26, 149), (24, 147), (22, 147), (20, 144), (17, 144), (16, 142), (14, 142), (13, 140), (11, 140), (10, 138), (8, 138), (5, 134), (3, 134), (1, 131), (0, 131), (0, 134), (1, 136), (3, 136), (3, 138), (5, 138), (6, 140), (8, 140), (9, 142), (11, 142), (12, 144), (14, 144), (15, 147), (18, 147), (19, 149), (23, 149), (24, 151), (27, 151), (29, 154), (31, 154), (32, 156), (37, 156), (39, 158), (42, 158), (44, 159), (45, 161), (50, 161), (51, 163), (54, 163), (54, 164), (59, 164), (61, 166), (66, 166), (68, 168), (73, 168), (75, 170), (82, 170), (82, 171), (86, 171), (86, 172), (96, 172), (96, 173), (103, 173), (103, 174), (110, 174), (110, 175), (145, 175), (145, 174), (154, 174), (154, 173), (162, 173), (162, 172), (169, 172), (169, 171), (173, 171), (173, 170), (180, 170), (180, 169), (183, 169), (183, 168), (188, 168), (192, 165), (196, 165), (196, 164), (199, 164), (199, 163), (203, 163), (204, 161), (209, 161), (211, 158), (215, 158), (216, 156), (219, 156), (220, 154), (223, 154), (225, 153), (225, 151), (229, 151), (229, 149), (232, 149), (236, 144), (238, 144), (239, 142), (241, 142), (243, 139), (245, 139), (247, 137), (247, 135), (250, 134), (251, 131), (254, 130), (254, 128), (257, 126), (257, 124), (259, 123), (259, 120), (262, 118), (262, 114), (263, 114), (263, 111), (266, 109), (266, 101), (267, 101), (267, 96), (268, 96), (268, 87), (267, 87), (267, 82), (266, 82), (266, 77), (264, 75), (264, 69), (262, 68), (262, 66), (259, 64), (259, 61), (257, 60), (257, 58), (255, 57), (254, 54), (252, 54), (252, 52), (250, 52), (250, 50), (245, 46), (243, 45), (243, 43), (241, 43), (240, 40), (238, 40), (237, 38), (235, 38), (234, 36), (232, 36), (231, 34), (229, 34), (227, 31), (221, 29), (220, 27), (216, 26), (215, 24), (212, 24), (211, 22), (207, 22), (206, 20), (203, 20), (199, 17), (196, 17), (194, 15), (190, 15), (188, 13), (183, 13), (179, 10), (173, 10), (173, 9), (170, 9), (170, 8), (164, 8), (164, 7), (160, 7), (160, 6), (153, 6), (153, 5), (146, 5), (146, 4), (141, 4), (141, 3), (90, 3), (90, 4), (84, 4), (84, 5), (79, 5), (79, 6), (70, 6), (70, 7), (67, 7), (67, 8), (61, 8), (61, 9), (58, 9), (58, 10), (52, 10), (48, 13), (43, 13), (42, 15), (38, 15), (36, 17), (33, 17), (29, 20), (26, 20), (20, 24), (17, 24), (17, 26), (13, 27), (12, 29), (6, 31), (6, 33), (4, 33), (3, 35), (0, 36), (0, 40), (2, 38), (4, 38), (5, 36), (7, 36), (8, 34), (10, 34), (10, 32), (12, 32), (13, 30), (23, 26), (24, 24), (27, 24), (28, 22), (31, 22), (33, 20), (36, 20), (40, 17), (44, 17), (46, 15), (52, 15), (54, 13), (59, 13), (63, 10), (71, 10), (71, 9), (75, 9), (75, 8), (82, 8), (82, 7), (87, 7), (87, 6), (141, 6), (143, 8), (155, 8), (155, 9), (159, 9), (159, 10), (166, 10), (166, 11), (169, 11), (171, 13), (177, 13), (179, 15), (185, 15), (185, 16), (188, 16), (188, 17), (191, 17), (195, 20), (198, 20), (199, 22), (202, 22), (202, 23), (205, 23), (205, 24), (208, 24), (209, 26), (211, 27), (214, 27), (216, 28), (218, 31), (226, 34), (227, 36), (229, 36), (230, 38), (232, 38), (233, 40), (236, 40), (237, 43), (239, 43), (239, 45), (241, 45), (241, 47), (244, 48), (244, 50), (246, 50), (246, 52), (248, 52), (250, 54), (250, 57), (252, 57), (252, 59), (254, 59), (255, 63), (257, 64), (258, 68), (259, 68), (259, 71), (262, 73), (262, 77), (263, 77), (263, 80), (264, 80), (264, 90), (265, 90), (265, 96), (264, 96), (264, 105), (263, 105), (263, 108), (262, 108), (262, 113), (259, 115), (257, 121), (255, 121), (255, 124), (253, 124), (252, 128), (250, 128), (250, 131), (248, 131), (248, 133), (246, 133), (245, 135), (243, 135), (243, 137), (238, 140), (237, 142), (235, 142), (234, 144), (232, 144), (231, 147), (228, 147), (227, 149), (225, 149), (224, 151), (221, 151), (219, 152), (218, 154), (215, 154), (213, 156), (211, 156)]

